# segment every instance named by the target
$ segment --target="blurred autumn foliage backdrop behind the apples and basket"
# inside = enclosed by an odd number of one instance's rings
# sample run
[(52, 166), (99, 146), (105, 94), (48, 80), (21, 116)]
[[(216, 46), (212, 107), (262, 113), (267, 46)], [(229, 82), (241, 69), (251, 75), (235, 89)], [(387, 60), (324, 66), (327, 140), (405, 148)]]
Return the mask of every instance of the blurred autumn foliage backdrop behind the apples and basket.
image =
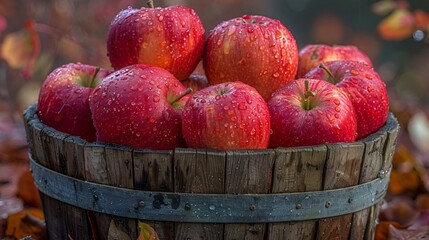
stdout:
[[(410, 199), (427, 195), (428, 0), (155, 1), (161, 7), (173, 4), (195, 9), (206, 34), (222, 21), (258, 14), (283, 22), (300, 48), (353, 44), (366, 52), (386, 82), (391, 111), (402, 127), (389, 193)], [(26, 166), (4, 170), (1, 163), (26, 161), (21, 115), (37, 101), (47, 74), (69, 62), (110, 68), (105, 40), (111, 20), (128, 6), (145, 5), (134, 0), (0, 0), (0, 180), (26, 171)]]

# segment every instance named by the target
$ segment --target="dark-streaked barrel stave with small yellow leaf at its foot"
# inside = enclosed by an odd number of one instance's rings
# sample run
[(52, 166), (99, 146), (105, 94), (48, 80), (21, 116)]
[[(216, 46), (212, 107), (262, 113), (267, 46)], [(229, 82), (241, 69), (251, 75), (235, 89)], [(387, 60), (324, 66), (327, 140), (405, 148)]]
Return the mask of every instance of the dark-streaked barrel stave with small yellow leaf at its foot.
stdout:
[[(173, 151), (135, 150), (134, 189), (172, 192)], [(174, 239), (174, 223), (145, 221), (160, 239)]]

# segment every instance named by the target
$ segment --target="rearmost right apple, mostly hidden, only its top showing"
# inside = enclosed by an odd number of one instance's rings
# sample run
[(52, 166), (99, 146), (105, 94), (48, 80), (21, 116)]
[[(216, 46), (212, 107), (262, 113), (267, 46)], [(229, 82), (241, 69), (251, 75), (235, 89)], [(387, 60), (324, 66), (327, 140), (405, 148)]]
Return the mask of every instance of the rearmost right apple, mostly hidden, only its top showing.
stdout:
[(371, 59), (354, 45), (310, 44), (299, 51), (297, 78), (303, 77), (321, 63), (334, 60), (354, 60), (372, 67)]

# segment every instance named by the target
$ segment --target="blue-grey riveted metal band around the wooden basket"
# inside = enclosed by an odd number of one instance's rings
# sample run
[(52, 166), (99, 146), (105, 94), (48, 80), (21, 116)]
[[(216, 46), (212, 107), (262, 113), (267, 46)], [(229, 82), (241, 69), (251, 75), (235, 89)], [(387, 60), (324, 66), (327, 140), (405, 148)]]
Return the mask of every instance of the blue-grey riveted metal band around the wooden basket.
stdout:
[[(31, 155), (31, 154), (30, 154)], [(389, 174), (353, 187), (281, 194), (194, 194), (118, 188), (75, 179), (36, 163), (38, 189), (83, 209), (142, 220), (198, 223), (268, 223), (334, 217), (384, 198)]]

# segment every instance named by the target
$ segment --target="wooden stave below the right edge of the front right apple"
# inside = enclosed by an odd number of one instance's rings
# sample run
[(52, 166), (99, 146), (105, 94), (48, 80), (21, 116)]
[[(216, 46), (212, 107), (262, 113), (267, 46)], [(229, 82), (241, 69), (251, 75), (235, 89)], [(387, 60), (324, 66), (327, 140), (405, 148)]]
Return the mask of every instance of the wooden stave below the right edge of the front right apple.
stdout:
[[(365, 145), (361, 142), (329, 144), (323, 190), (356, 185), (362, 164)], [(326, 207), (331, 204), (326, 203)], [(316, 239), (348, 239), (352, 214), (319, 220)]]

